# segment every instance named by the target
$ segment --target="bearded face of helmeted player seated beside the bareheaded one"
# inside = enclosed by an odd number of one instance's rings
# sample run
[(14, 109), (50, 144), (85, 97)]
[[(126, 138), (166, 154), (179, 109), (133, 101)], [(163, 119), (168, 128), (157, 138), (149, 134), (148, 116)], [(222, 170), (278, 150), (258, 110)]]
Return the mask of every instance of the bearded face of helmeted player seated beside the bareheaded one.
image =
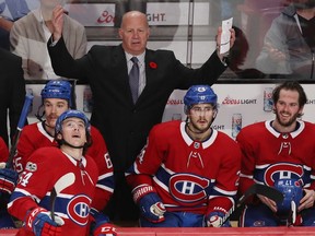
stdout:
[(195, 131), (205, 132), (212, 123), (217, 110), (211, 104), (198, 104), (190, 108), (189, 119)]

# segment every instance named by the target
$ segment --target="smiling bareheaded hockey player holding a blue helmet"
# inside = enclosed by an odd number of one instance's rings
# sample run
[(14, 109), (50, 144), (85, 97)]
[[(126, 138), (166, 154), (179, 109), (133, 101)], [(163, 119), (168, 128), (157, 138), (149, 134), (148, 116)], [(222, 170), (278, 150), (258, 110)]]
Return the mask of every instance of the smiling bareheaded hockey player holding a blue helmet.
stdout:
[(240, 225), (315, 226), (315, 128), (300, 119), (306, 94), (298, 82), (288, 81), (273, 90), (272, 99), (276, 118), (249, 125), (236, 137), (243, 153), (240, 192), (258, 182), (282, 191), (284, 201), (257, 196)]

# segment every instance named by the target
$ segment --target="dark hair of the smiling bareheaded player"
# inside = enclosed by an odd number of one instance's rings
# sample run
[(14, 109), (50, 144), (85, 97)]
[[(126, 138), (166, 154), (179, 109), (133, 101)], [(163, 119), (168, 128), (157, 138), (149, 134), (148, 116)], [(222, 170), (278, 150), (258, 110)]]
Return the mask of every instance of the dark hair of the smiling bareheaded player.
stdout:
[[(299, 106), (303, 107), (307, 102), (307, 96), (304, 92), (304, 88), (301, 86), (301, 84), (298, 81), (285, 81), (284, 83), (278, 85), (273, 92), (272, 92), (272, 101), (273, 104), (277, 104), (280, 96), (280, 91), (296, 91), (299, 93)], [(300, 114), (299, 117), (303, 116), (303, 114)]]

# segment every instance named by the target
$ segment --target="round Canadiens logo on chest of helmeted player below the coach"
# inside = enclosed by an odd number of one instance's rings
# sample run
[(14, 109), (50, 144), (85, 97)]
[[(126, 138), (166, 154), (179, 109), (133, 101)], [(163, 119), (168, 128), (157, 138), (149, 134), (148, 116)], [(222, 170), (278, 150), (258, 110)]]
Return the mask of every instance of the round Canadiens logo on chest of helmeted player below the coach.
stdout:
[(205, 189), (208, 187), (209, 180), (196, 175), (176, 174), (170, 178), (171, 194), (187, 204), (205, 200)]

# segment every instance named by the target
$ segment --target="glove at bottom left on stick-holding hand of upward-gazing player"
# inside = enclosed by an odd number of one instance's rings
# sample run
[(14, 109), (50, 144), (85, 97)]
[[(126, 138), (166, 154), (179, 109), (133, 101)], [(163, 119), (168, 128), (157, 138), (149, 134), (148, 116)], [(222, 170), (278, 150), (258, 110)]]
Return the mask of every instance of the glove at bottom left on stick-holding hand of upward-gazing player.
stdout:
[(61, 235), (61, 225), (63, 220), (55, 216), (54, 222), (50, 217), (50, 212), (43, 208), (35, 208), (26, 215), (25, 227), (33, 232), (36, 236), (59, 236)]

